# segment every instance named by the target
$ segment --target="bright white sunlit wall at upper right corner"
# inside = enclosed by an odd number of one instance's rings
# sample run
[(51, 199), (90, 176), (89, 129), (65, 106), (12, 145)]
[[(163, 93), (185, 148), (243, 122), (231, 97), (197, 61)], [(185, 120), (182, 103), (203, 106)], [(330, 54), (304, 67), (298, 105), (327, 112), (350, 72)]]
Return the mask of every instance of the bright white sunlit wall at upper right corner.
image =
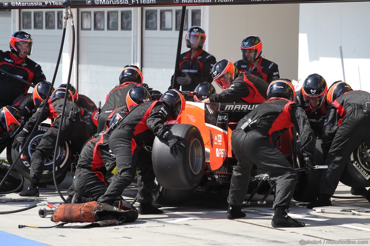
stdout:
[(298, 78), (317, 73), (328, 86), (343, 80), (342, 45), (346, 82), (370, 91), (369, 10), (369, 2), (300, 4)]

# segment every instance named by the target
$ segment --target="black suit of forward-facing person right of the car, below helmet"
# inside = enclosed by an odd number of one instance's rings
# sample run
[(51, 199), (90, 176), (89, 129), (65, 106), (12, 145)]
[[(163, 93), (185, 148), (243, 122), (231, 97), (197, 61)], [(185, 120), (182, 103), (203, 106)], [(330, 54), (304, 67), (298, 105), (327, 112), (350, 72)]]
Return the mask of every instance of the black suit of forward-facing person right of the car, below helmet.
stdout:
[(322, 130), (324, 127), (324, 121), (326, 119), (326, 108), (328, 107), (327, 100), (324, 100), (323, 105), (321, 105), (321, 107), (318, 109), (310, 109), (303, 99), (302, 90), (299, 90), (296, 92), (296, 97), (293, 101), (303, 106), (315, 137), (322, 139)]

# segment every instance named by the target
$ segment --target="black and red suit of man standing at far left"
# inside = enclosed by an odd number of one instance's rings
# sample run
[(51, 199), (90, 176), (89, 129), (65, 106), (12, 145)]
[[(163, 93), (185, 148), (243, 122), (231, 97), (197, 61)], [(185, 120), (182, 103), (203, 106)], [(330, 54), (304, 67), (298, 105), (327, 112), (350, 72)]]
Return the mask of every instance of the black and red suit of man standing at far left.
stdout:
[[(0, 50), (0, 68), (30, 83), (46, 79), (41, 66), (30, 58), (21, 59), (10, 51)], [(0, 107), (11, 105), (17, 96), (27, 93), (29, 85), (0, 72)]]

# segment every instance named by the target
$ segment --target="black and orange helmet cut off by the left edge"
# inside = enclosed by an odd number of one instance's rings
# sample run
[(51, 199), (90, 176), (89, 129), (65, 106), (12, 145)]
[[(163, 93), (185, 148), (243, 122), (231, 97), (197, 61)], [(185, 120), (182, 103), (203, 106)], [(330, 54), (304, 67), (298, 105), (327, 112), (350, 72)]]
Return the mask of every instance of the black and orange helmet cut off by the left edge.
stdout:
[(21, 114), (11, 106), (0, 109), (0, 139), (9, 135), (13, 137), (19, 131), (22, 123)]

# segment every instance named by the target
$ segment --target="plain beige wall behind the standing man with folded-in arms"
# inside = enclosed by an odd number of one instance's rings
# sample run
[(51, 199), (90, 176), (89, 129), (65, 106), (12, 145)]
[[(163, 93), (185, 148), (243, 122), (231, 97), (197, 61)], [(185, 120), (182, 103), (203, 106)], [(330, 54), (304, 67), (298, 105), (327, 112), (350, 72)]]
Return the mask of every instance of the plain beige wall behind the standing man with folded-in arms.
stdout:
[(297, 79), (298, 29), (299, 4), (210, 6), (209, 53), (235, 62), (243, 38), (256, 35), (262, 56), (279, 66), (280, 78)]

